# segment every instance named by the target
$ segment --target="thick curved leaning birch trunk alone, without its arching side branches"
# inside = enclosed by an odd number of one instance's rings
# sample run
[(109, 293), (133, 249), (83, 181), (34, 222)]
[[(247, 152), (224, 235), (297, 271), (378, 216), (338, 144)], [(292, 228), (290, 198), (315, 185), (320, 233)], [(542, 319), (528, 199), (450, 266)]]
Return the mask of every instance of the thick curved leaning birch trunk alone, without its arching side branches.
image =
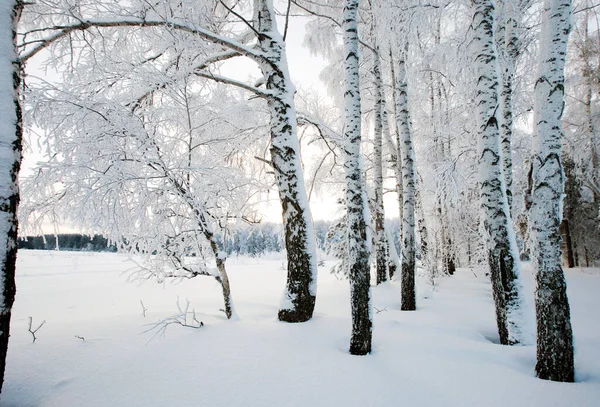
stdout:
[(288, 72), (285, 43), (277, 31), (272, 0), (256, 0), (261, 62), (271, 113), (271, 163), (283, 209), (287, 283), (279, 320), (304, 322), (312, 318), (317, 294), (317, 257), (313, 224), (300, 164), (296, 128), (295, 89)]

